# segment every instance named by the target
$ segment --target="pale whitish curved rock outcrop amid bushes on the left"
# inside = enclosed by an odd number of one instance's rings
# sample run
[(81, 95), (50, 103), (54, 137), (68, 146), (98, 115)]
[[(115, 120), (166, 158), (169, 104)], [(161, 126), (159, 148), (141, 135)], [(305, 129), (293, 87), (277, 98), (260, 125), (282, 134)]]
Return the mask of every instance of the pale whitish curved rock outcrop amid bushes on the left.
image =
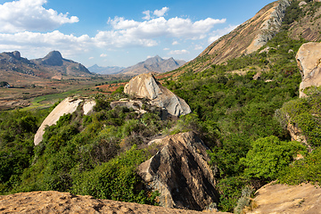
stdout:
[(34, 144), (37, 145), (43, 140), (45, 127), (50, 127), (56, 124), (56, 122), (60, 119), (60, 117), (62, 117), (62, 115), (73, 113), (74, 111), (76, 111), (80, 103), (83, 103), (83, 111), (85, 115), (92, 111), (95, 106), (95, 101), (92, 100), (86, 100), (85, 98), (67, 97), (61, 103), (59, 103), (42, 122), (34, 137)]

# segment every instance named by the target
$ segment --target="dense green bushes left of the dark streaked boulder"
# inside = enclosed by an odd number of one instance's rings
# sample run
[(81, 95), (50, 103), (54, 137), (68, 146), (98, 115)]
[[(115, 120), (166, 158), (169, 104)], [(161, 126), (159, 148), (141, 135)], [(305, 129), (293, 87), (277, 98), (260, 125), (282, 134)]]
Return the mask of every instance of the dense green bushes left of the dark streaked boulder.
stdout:
[(127, 96), (122, 90), (95, 95), (90, 116), (63, 115), (35, 148), (39, 121), (52, 109), (0, 115), (0, 193), (56, 190), (154, 204), (157, 193), (144, 188), (136, 167), (157, 151), (144, 143), (170, 121), (148, 103), (143, 116), (126, 107), (111, 109), (111, 101)]

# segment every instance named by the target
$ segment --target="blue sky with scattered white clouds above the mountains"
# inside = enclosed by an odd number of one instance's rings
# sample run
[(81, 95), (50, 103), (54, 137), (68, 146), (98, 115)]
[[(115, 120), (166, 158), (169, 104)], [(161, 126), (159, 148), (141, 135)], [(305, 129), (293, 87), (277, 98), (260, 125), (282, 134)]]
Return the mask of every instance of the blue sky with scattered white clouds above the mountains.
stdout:
[(193, 60), (271, 0), (0, 0), (0, 52), (57, 50), (86, 67), (128, 67), (156, 54)]

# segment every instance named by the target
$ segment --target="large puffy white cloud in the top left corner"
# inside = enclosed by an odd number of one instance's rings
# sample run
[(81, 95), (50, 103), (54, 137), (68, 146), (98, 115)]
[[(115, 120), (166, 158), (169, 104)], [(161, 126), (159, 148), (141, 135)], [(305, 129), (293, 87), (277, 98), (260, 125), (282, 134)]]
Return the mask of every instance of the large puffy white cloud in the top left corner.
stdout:
[(46, 0), (19, 0), (0, 4), (0, 32), (15, 33), (25, 30), (50, 30), (65, 23), (78, 22), (53, 9), (45, 9)]

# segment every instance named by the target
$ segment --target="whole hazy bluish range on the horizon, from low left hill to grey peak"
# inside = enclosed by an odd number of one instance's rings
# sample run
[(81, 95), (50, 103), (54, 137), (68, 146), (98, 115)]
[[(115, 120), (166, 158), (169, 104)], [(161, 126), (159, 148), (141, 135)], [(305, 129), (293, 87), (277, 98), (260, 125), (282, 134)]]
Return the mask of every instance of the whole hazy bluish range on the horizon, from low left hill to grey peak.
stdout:
[(142, 73), (149, 72), (167, 72), (169, 70), (175, 70), (178, 67), (185, 64), (185, 61), (174, 60), (172, 57), (164, 60), (159, 55), (148, 58), (144, 62), (138, 62), (136, 65), (130, 66), (128, 68), (122, 67), (99, 67), (98, 65), (93, 65), (88, 68), (93, 73), (99, 74), (123, 74), (128, 76), (135, 76)]

